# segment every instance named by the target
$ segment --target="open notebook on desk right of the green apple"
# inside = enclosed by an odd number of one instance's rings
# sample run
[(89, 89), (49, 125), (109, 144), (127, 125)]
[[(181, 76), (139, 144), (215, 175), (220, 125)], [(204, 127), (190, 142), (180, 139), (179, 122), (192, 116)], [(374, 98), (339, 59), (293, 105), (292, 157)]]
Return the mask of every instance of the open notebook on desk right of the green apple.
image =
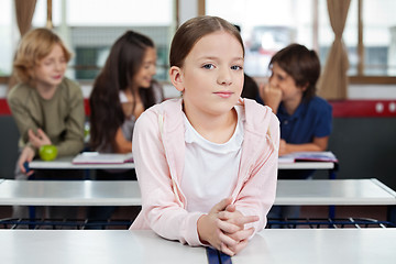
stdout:
[(72, 161), (73, 164), (123, 164), (133, 163), (132, 153), (116, 154), (116, 153), (99, 153), (99, 152), (82, 152)]

